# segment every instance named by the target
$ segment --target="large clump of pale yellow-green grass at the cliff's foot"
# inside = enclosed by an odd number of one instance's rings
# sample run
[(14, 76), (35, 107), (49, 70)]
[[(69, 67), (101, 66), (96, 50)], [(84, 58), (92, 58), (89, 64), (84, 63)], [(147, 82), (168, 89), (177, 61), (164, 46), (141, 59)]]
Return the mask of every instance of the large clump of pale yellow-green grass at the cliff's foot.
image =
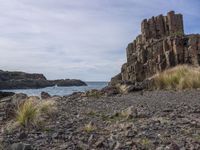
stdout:
[(196, 89), (200, 88), (200, 68), (179, 65), (153, 77), (155, 89)]

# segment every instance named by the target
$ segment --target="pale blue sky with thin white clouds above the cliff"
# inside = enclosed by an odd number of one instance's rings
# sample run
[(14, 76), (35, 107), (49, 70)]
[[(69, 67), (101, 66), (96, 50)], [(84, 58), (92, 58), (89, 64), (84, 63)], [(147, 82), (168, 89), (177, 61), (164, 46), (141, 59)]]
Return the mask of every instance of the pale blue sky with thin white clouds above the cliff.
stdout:
[(0, 69), (48, 79), (109, 81), (145, 18), (184, 15), (200, 33), (199, 0), (0, 0)]

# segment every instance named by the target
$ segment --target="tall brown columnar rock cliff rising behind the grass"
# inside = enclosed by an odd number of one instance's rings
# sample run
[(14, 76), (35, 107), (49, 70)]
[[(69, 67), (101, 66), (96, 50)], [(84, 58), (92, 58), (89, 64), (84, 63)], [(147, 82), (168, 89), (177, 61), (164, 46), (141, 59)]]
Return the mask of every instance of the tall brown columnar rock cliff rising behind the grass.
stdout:
[(126, 49), (127, 63), (111, 79), (117, 83), (136, 83), (178, 64), (200, 64), (200, 35), (185, 35), (183, 16), (171, 11), (141, 23), (141, 34)]

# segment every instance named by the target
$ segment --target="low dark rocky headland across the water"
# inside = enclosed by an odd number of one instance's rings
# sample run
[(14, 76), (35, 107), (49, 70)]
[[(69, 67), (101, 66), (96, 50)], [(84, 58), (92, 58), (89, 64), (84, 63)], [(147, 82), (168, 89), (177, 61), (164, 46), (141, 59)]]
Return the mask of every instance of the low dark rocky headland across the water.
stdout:
[(45, 88), (55, 85), (86, 86), (87, 84), (77, 79), (47, 80), (43, 74), (0, 70), (0, 89)]

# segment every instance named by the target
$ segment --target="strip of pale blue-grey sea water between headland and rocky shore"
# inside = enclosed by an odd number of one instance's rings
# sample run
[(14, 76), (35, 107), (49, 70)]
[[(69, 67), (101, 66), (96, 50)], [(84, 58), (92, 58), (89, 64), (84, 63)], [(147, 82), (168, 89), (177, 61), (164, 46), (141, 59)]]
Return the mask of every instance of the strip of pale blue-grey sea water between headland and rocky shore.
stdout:
[(2, 90), (5, 92), (25, 93), (29, 96), (40, 96), (41, 92), (47, 92), (50, 95), (65, 96), (73, 92), (85, 92), (91, 89), (102, 89), (108, 85), (108, 82), (86, 82), (88, 86), (70, 86), (70, 87), (46, 87), (40, 89), (15, 89), (15, 90)]

